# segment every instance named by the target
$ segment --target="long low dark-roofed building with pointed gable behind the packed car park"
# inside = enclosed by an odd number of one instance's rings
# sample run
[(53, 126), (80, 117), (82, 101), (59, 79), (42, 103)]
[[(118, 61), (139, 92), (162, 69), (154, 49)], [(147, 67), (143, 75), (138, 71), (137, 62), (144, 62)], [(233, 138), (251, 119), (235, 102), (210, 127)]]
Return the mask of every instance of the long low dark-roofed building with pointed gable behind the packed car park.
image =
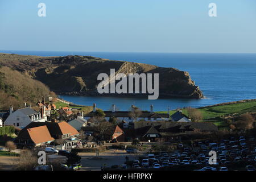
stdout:
[(127, 127), (127, 123), (119, 123), (118, 127), (123, 131), (123, 141), (138, 138), (142, 141), (155, 141), (158, 138), (170, 140), (174, 137), (192, 135), (197, 131), (202, 133), (214, 133), (218, 127), (212, 122), (134, 122), (134, 127)]

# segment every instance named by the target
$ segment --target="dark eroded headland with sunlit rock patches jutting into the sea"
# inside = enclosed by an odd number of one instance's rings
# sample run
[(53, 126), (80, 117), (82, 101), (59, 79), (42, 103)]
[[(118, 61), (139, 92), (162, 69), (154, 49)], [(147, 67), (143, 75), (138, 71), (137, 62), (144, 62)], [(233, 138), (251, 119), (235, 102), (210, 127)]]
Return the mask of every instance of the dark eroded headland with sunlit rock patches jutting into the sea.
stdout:
[(40, 57), (0, 54), (0, 64), (42, 81), (56, 93), (97, 95), (100, 73), (159, 73), (159, 96), (202, 98), (188, 72), (92, 56)]

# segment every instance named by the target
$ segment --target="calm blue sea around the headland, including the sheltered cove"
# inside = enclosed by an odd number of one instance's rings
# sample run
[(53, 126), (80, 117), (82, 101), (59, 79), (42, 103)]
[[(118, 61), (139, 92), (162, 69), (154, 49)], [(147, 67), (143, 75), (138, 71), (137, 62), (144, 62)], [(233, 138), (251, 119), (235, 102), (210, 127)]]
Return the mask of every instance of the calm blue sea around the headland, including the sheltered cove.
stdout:
[(64, 100), (81, 105), (97, 104), (108, 110), (117, 105), (119, 110), (127, 110), (134, 104), (143, 110), (167, 110), (177, 107), (200, 107), (221, 102), (256, 98), (256, 54), (212, 54), (212, 53), (110, 53), (110, 52), (49, 52), (49, 51), (0, 51), (38, 56), (87, 55), (112, 60), (134, 61), (172, 67), (187, 71), (207, 98), (190, 100), (181, 98), (147, 100), (120, 97), (79, 97), (60, 96)]

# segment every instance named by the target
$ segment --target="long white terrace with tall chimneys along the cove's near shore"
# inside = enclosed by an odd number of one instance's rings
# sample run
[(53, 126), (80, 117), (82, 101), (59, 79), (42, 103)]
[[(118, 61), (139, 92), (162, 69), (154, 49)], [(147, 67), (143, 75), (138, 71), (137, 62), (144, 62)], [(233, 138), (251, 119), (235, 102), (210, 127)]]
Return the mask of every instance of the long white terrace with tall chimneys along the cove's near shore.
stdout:
[[(90, 119), (94, 117), (96, 112), (96, 104), (93, 104), (93, 111), (88, 114), (85, 114), (85, 119)], [(137, 119), (131, 117), (131, 111), (116, 111), (115, 105), (112, 105), (112, 111), (104, 111), (106, 121), (109, 121), (110, 118), (115, 117), (119, 122), (125, 120), (127, 122), (134, 121), (169, 121), (169, 114), (159, 114), (153, 111), (153, 105), (150, 105), (150, 111), (141, 111), (141, 114), (138, 115)]]

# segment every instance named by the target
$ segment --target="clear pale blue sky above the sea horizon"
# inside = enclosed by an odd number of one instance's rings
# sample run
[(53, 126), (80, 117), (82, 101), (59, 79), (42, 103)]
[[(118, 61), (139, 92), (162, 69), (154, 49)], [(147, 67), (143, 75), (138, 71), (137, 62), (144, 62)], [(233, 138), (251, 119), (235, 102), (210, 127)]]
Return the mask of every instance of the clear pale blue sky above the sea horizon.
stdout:
[(256, 53), (256, 1), (0, 0), (0, 49)]

